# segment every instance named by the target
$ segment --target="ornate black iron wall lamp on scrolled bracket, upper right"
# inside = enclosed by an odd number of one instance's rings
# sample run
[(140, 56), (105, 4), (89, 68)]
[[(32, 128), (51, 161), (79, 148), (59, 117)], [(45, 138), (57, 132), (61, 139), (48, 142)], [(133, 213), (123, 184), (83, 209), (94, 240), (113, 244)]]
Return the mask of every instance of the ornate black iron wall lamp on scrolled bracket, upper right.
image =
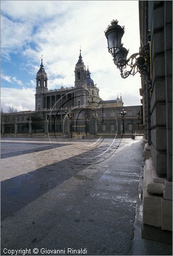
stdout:
[(121, 38), (125, 32), (125, 27), (118, 25), (118, 20), (112, 20), (111, 25), (105, 31), (105, 36), (108, 40), (108, 51), (113, 56), (114, 64), (120, 70), (122, 78), (127, 78), (129, 75), (135, 75), (137, 72), (145, 74), (148, 81), (151, 81), (151, 47), (150, 35), (147, 36), (147, 45), (140, 49), (139, 53), (132, 54), (128, 59), (129, 50), (122, 47)]

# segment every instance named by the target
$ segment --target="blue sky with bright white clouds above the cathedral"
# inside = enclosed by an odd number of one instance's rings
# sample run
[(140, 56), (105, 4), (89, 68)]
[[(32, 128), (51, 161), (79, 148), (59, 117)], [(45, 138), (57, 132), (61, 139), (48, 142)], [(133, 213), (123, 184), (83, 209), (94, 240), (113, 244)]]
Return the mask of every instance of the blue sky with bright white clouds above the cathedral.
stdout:
[(41, 56), (48, 90), (74, 86), (80, 48), (103, 100), (140, 105), (140, 74), (121, 78), (107, 49), (111, 20), (125, 26), (128, 57), (139, 51), (138, 1), (1, 1), (1, 108), (35, 110)]

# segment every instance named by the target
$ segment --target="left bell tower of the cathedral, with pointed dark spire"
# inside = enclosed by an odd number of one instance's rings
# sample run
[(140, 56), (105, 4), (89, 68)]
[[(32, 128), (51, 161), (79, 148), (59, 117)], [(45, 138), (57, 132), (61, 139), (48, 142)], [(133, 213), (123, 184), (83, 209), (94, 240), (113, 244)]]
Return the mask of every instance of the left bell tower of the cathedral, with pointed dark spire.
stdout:
[(44, 109), (44, 93), (47, 91), (47, 74), (44, 70), (43, 59), (36, 76), (35, 110)]

